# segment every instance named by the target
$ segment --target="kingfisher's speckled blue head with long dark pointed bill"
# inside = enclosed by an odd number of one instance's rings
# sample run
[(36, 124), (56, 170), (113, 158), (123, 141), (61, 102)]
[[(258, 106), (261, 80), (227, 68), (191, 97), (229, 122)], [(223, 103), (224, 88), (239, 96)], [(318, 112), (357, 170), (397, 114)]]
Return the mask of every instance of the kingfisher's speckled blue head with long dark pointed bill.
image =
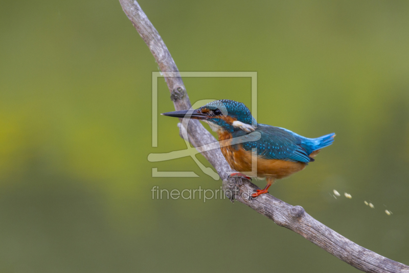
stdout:
[(184, 118), (186, 114), (190, 118), (205, 121), (210, 125), (213, 131), (227, 131), (233, 133), (235, 131), (253, 132), (257, 126), (257, 122), (252, 116), (252, 113), (241, 102), (230, 99), (221, 99), (209, 102), (199, 109), (183, 110), (168, 112), (162, 115)]

